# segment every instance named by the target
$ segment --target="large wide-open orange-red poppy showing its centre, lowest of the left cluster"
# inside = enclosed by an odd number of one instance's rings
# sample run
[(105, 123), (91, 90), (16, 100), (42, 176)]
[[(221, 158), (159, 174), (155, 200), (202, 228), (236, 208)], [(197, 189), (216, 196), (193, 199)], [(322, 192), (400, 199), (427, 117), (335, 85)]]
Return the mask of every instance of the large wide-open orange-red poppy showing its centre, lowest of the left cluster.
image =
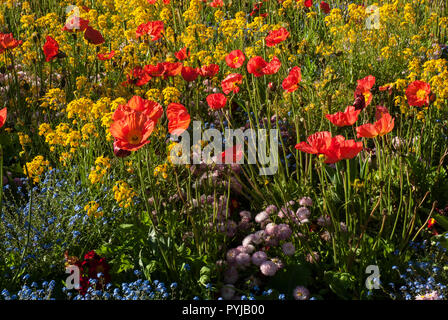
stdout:
[(154, 127), (155, 122), (144, 113), (131, 112), (112, 122), (110, 133), (116, 139), (117, 148), (136, 151), (149, 143)]

